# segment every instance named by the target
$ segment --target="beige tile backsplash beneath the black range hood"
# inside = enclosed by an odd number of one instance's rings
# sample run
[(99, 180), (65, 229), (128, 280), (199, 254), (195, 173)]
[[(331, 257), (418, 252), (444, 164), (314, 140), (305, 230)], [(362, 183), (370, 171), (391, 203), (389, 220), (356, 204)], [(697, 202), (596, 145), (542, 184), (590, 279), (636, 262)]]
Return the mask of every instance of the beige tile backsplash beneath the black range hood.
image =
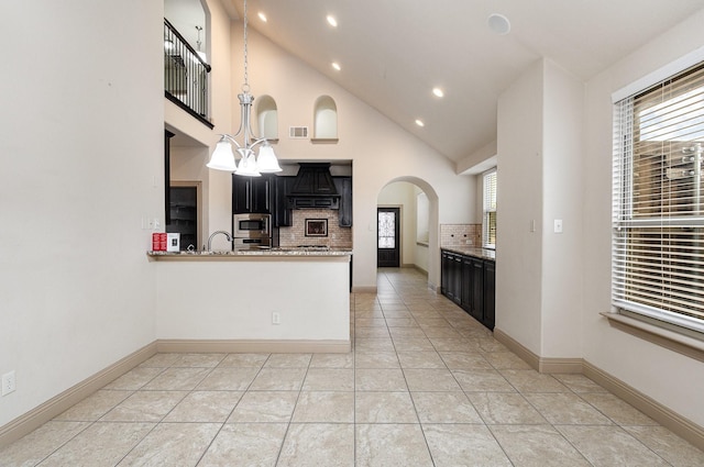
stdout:
[[(290, 227), (279, 227), (280, 246), (327, 245), (332, 248), (352, 248), (352, 229), (341, 227), (339, 211), (333, 209), (295, 209)], [(306, 219), (328, 220), (327, 236), (306, 236)]]

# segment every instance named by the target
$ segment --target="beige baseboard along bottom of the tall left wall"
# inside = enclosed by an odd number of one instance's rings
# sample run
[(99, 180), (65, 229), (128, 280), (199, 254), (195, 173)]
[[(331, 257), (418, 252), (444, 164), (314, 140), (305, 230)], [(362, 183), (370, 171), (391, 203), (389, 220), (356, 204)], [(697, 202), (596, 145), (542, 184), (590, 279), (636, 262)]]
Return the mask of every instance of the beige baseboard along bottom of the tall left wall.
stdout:
[(151, 343), (0, 426), (0, 447), (18, 441), (157, 353)]

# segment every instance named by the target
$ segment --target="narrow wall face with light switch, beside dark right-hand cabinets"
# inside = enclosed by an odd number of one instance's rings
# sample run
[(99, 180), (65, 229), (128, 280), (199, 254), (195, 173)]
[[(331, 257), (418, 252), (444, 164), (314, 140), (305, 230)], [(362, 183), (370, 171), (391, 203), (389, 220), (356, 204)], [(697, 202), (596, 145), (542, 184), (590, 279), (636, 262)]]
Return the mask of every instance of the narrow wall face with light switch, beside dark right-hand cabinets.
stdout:
[(497, 127), (496, 327), (536, 354), (542, 338), (542, 102), (538, 60), (499, 97)]

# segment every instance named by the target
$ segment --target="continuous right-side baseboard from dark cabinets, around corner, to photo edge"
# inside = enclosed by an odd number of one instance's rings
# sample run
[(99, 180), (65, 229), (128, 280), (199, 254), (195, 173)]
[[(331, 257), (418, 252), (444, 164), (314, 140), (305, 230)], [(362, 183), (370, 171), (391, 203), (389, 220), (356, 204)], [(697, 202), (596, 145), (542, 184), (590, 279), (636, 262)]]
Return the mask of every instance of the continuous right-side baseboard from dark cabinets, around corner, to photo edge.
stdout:
[(628, 402), (636, 409), (640, 410), (662, 426), (666, 426), (678, 436), (683, 437), (700, 449), (704, 451), (704, 427), (697, 425), (685, 416), (680, 415), (671, 409), (668, 409), (654, 399), (651, 399), (636, 388), (627, 385), (583, 358), (541, 358), (518, 341), (496, 327), (494, 329), (494, 337), (539, 373), (573, 373), (586, 376), (597, 385), (607, 389), (609, 392), (618, 396), (625, 402)]

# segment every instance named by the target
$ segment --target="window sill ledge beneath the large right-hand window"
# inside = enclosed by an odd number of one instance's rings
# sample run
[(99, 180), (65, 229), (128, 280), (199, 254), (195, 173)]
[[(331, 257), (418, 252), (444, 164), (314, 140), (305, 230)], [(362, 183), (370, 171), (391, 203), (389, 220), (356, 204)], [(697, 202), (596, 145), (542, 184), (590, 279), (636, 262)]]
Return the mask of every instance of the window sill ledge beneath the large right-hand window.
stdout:
[(704, 362), (704, 342), (690, 337), (674, 331), (625, 316), (619, 313), (601, 313), (608, 320), (608, 323), (628, 334), (640, 337), (652, 344), (669, 348), (670, 351)]

